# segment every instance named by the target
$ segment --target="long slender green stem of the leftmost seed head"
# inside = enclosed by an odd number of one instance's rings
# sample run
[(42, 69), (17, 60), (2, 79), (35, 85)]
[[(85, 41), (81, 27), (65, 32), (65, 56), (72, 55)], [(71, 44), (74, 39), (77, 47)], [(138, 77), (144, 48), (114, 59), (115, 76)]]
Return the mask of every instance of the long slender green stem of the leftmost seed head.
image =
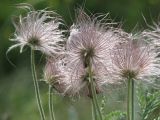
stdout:
[(37, 80), (37, 74), (36, 74), (36, 68), (35, 68), (35, 58), (34, 58), (34, 50), (31, 49), (31, 70), (32, 70), (32, 77), (34, 82), (34, 88), (35, 88), (35, 94), (38, 104), (38, 109), (41, 115), (41, 120), (45, 120), (45, 114), (42, 107), (42, 102), (40, 98), (40, 92), (39, 92), (39, 84)]

